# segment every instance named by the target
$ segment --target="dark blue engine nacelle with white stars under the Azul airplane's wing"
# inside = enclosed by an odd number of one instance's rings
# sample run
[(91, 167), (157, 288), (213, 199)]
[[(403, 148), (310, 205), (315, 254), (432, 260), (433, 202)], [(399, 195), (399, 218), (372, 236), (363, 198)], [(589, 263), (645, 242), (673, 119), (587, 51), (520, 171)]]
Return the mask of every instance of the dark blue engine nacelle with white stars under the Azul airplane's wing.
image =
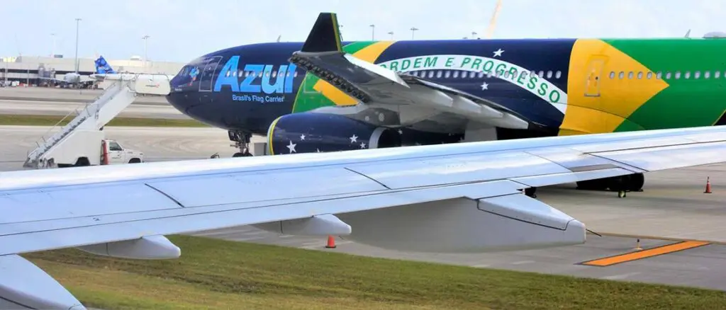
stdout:
[(269, 155), (456, 143), (463, 135), (378, 127), (335, 114), (287, 114), (267, 130)]

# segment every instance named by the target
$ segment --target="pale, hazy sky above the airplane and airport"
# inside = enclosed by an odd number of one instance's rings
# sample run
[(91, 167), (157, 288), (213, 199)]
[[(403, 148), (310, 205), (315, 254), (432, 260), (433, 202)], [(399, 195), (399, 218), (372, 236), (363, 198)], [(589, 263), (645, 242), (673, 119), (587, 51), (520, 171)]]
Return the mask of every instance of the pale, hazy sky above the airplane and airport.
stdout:
[[(23, 0), (2, 4), (0, 56), (188, 62), (248, 43), (304, 41), (319, 12), (346, 41), (484, 36), (497, 0)], [(502, 0), (492, 38), (662, 38), (726, 31), (722, 0)], [(371, 28), (370, 25), (375, 25)], [(52, 35), (55, 33), (56, 35)], [(55, 44), (53, 43), (55, 38)]]

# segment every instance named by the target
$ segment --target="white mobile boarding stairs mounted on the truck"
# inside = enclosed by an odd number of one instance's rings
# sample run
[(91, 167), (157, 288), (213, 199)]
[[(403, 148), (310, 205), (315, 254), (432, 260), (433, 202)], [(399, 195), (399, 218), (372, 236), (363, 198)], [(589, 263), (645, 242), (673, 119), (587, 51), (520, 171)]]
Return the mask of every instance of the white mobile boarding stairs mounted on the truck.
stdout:
[[(28, 152), (23, 167), (28, 169), (53, 167), (52, 160), (48, 160), (52, 157), (48, 155), (56, 151), (72, 151), (62, 148), (70, 148), (70, 145), (73, 145), (65, 142), (68, 142), (74, 130), (102, 130), (123, 109), (131, 105), (139, 93), (162, 96), (168, 94), (171, 90), (171, 78), (168, 75), (149, 74), (106, 75), (105, 80), (110, 80), (112, 83), (105, 91), (93, 102), (68, 113), (52, 126), (40, 140), (36, 141), (36, 148)], [(73, 120), (61, 125), (69, 117), (73, 117)], [(88, 141), (88, 143), (100, 143), (100, 141)]]

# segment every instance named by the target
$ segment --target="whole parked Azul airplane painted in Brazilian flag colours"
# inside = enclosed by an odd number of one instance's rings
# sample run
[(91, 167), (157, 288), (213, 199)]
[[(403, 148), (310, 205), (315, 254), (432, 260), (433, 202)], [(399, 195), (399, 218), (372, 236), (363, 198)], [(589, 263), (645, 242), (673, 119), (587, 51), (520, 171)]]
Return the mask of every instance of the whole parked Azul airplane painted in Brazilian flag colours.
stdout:
[[(725, 125), (723, 51), (714, 34), (341, 42), (335, 14), (321, 14), (304, 43), (200, 56), (167, 98), (229, 130), (233, 156), (250, 155), (253, 134), (268, 154), (290, 154)], [(638, 173), (578, 187), (644, 183)]]

